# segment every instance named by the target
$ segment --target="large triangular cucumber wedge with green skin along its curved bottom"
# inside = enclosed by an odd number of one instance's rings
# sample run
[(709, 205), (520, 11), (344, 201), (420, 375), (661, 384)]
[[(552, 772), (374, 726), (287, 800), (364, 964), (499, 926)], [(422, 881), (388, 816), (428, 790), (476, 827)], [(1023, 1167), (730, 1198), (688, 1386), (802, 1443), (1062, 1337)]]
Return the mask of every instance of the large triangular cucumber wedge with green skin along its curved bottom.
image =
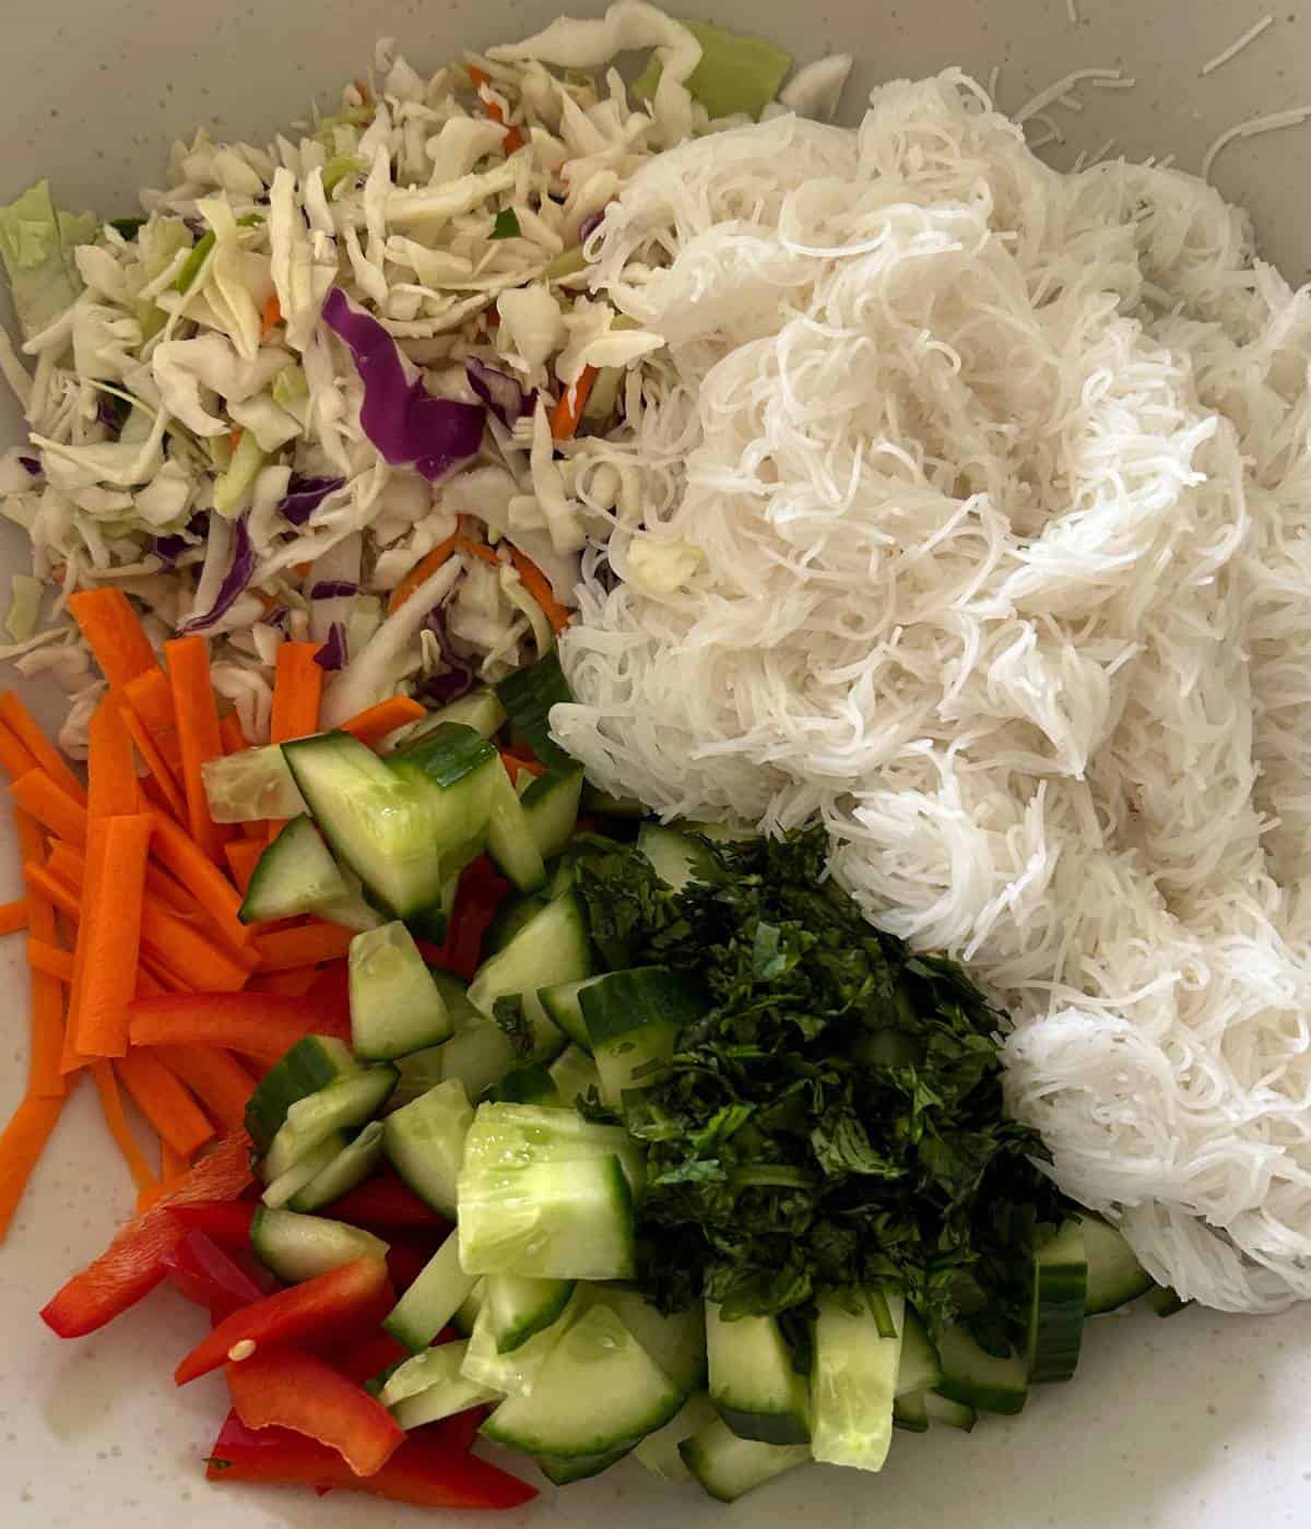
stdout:
[(682, 1393), (604, 1306), (560, 1338), (526, 1396), (511, 1396), (482, 1425), (496, 1443), (574, 1460), (636, 1443), (662, 1428)]

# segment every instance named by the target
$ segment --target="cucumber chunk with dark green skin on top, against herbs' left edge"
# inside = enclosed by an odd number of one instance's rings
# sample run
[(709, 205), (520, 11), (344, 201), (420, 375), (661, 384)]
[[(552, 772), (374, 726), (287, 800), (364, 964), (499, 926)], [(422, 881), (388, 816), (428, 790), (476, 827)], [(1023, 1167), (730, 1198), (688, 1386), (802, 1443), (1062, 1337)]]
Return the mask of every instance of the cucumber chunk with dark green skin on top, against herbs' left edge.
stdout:
[(679, 1032), (708, 1008), (696, 985), (669, 966), (613, 971), (581, 988), (578, 1005), (601, 1073), (601, 1096), (613, 1110), (621, 1109), (626, 1090), (661, 1079)]

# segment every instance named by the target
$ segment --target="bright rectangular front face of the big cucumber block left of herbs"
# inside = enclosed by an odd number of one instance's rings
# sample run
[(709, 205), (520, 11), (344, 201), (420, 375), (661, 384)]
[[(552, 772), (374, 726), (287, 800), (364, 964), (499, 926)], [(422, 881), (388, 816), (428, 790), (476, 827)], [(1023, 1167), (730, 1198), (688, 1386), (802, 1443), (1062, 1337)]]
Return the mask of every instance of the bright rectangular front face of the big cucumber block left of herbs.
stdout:
[(630, 1280), (633, 1200), (618, 1157), (465, 1168), (460, 1263), (468, 1274)]

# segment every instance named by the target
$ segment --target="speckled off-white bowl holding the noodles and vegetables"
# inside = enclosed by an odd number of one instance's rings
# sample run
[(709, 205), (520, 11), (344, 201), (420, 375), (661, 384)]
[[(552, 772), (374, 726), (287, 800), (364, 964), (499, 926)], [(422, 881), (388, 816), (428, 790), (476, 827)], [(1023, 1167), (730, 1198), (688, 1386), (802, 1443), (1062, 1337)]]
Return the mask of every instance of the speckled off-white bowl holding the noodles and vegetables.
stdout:
[[(1077, 67), (1117, 66), (1135, 90), (1085, 92), (1060, 113), (1069, 164), (1108, 138), (1129, 156), (1175, 154), (1196, 170), (1228, 125), (1311, 101), (1311, 6), (1293, 0), (1239, 58), (1201, 66), (1265, 11), (1265, 0), (711, 0), (698, 14), (765, 32), (812, 58), (840, 47), (860, 63), (846, 93), (858, 112), (870, 84), (961, 63), (1017, 107)], [(598, 0), (575, 5), (580, 14)], [(66, 206), (136, 209), (158, 182), (168, 142), (207, 121), (219, 135), (263, 139), (315, 93), (367, 67), (378, 35), (419, 66), (523, 35), (557, 14), (554, 0), (6, 0), (0, 49), (5, 159), (0, 194), (50, 176)], [(1238, 142), (1215, 179), (1251, 208), (1267, 252), (1291, 278), (1306, 266), (1311, 124)], [(17, 439), (8, 398), (0, 437)], [(0, 573), (26, 566), (23, 538), (0, 531)], [(3, 581), (0, 581), (3, 589)], [(57, 713), (57, 699), (26, 691)], [(0, 896), (18, 891), (12, 835), (0, 827)], [(21, 1089), (26, 980), (20, 939), (0, 945), (12, 994), (0, 1112)], [(194, 1307), (161, 1290), (80, 1342), (60, 1342), (37, 1309), (98, 1252), (128, 1214), (132, 1191), (83, 1087), (69, 1105), (8, 1243), (0, 1249), (0, 1524), (5, 1529), (188, 1529), (398, 1521), (407, 1511), (341, 1494), (210, 1488), (202, 1456), (226, 1408), (222, 1379), (174, 1391), (170, 1373), (196, 1341)], [(1279, 1318), (1187, 1310), (1101, 1318), (1086, 1335), (1074, 1384), (1034, 1393), (1017, 1419), (971, 1436), (899, 1434), (881, 1477), (800, 1471), (724, 1509), (695, 1488), (656, 1486), (636, 1465), (555, 1492), (511, 1523), (557, 1529), (695, 1529), (753, 1521), (783, 1529), (805, 1515), (825, 1529), (1201, 1529), (1311, 1520), (1311, 1307)], [(532, 1475), (531, 1468), (525, 1474)]]

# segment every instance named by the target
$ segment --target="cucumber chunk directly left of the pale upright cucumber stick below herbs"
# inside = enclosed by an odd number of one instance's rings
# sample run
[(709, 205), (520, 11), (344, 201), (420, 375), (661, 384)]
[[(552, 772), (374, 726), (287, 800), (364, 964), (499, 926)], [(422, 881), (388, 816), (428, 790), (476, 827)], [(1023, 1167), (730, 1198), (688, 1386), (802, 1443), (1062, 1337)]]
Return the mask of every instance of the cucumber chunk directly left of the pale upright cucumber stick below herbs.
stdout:
[(806, 1382), (774, 1316), (725, 1321), (705, 1303), (710, 1399), (739, 1439), (803, 1443), (811, 1437)]

